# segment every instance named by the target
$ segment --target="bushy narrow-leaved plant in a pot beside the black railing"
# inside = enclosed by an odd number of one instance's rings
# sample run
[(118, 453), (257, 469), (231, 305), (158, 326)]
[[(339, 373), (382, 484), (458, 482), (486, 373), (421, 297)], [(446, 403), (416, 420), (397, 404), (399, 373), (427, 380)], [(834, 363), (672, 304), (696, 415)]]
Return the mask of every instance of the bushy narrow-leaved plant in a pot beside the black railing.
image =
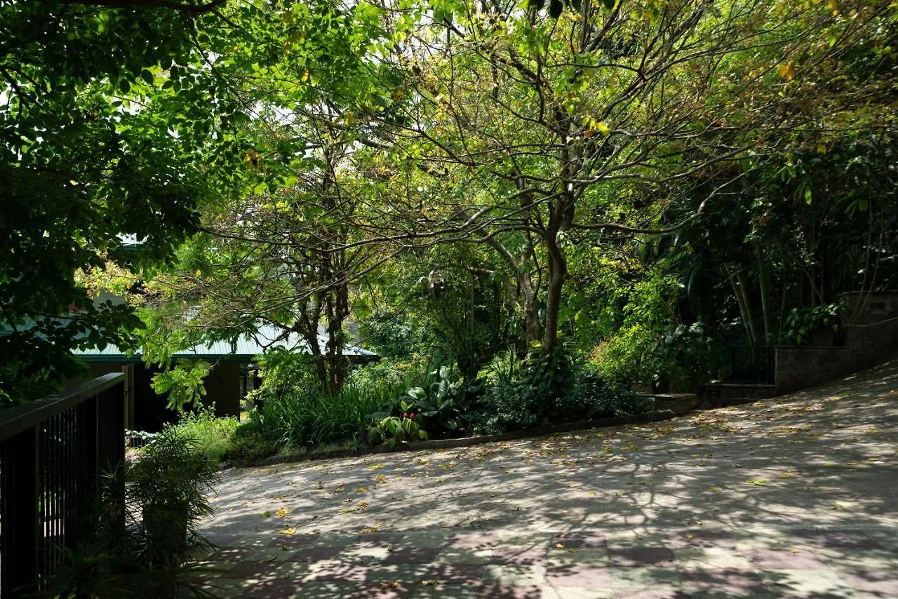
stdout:
[(171, 562), (184, 556), (188, 533), (212, 515), (207, 491), (218, 478), (216, 465), (201, 454), (195, 439), (166, 428), (130, 466), (128, 495), (143, 515), (146, 557)]

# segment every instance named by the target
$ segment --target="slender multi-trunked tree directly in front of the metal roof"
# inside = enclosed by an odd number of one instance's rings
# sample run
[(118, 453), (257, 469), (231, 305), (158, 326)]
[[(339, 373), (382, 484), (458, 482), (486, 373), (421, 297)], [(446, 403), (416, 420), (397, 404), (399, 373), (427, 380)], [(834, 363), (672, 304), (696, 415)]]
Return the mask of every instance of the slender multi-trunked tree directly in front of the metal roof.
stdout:
[(371, 59), (383, 30), (367, 4), (251, 11), (251, 27), (228, 31), (212, 66), (241, 103), (245, 185), (207, 205), (180, 273), (150, 291), (161, 337), (183, 330), (175, 336), (183, 345), (275, 325), (304, 339), (321, 387), (337, 391), (348, 366), (350, 281), (386, 260), (378, 247), (351, 247), (352, 215), (370, 196), (368, 181), (353, 174), (365, 171), (356, 140), (376, 143), (355, 115), (390, 101), (390, 69)]

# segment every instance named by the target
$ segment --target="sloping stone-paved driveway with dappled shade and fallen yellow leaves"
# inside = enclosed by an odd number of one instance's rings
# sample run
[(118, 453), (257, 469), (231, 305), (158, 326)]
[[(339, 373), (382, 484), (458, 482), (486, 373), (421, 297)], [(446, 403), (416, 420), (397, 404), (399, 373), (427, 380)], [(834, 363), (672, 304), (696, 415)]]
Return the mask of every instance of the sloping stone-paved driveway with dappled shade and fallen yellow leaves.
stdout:
[(896, 441), (893, 360), (647, 426), (225, 471), (210, 590), (898, 597)]

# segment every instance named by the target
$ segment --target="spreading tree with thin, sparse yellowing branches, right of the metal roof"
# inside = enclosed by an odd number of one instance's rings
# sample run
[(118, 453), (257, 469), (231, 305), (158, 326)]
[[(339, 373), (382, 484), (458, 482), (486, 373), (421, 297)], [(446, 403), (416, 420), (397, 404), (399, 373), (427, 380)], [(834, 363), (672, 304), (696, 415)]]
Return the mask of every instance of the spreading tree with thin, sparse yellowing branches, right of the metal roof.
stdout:
[(601, 232), (594, 242), (608, 242), (705, 214), (739, 175), (682, 214), (665, 205), (680, 181), (764, 151), (756, 130), (733, 123), (753, 120), (741, 98), (776, 70), (731, 78), (724, 67), (752, 52), (788, 58), (797, 31), (821, 28), (804, 9), (757, 0), (583, 2), (557, 19), (533, 5), (440, 7), (443, 18), (435, 13), (395, 57), (412, 98), (397, 145), (419, 172), (442, 171), (418, 183), (434, 216), (393, 239), (489, 244), (515, 273), (528, 339), (546, 352), (558, 343), (570, 235)]

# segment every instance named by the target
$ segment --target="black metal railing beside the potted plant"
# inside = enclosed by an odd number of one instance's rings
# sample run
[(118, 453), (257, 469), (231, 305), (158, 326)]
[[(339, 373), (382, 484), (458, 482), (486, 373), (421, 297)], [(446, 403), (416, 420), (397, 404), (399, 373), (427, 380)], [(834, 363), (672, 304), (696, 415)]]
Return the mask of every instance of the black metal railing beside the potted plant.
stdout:
[(125, 459), (124, 374), (0, 412), (0, 597), (40, 591)]

